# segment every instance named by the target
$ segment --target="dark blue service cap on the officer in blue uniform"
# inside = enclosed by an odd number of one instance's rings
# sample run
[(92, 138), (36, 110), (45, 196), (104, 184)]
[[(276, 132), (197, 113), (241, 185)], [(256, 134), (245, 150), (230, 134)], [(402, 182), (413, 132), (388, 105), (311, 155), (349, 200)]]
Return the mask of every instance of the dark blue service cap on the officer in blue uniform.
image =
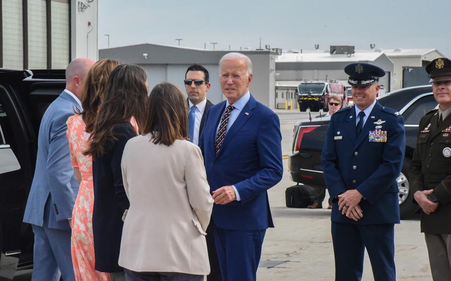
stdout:
[(385, 75), (384, 69), (369, 63), (351, 63), (344, 68), (349, 75), (348, 83), (351, 86), (365, 86), (379, 81)]

